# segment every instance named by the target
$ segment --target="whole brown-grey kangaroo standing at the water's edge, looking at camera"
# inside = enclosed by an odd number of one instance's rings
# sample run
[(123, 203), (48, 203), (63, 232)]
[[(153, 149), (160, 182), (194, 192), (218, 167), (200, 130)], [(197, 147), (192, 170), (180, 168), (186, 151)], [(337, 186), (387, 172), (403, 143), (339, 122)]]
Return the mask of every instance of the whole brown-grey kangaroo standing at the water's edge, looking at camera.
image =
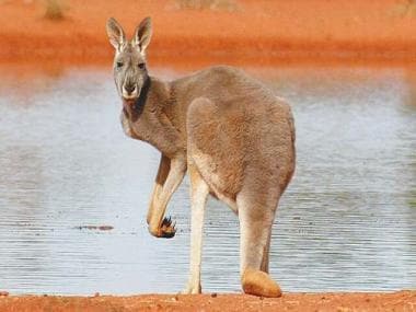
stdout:
[(240, 221), (240, 273), (245, 293), (279, 297), (268, 275), (271, 226), (294, 171), (294, 125), (288, 104), (242, 70), (216, 66), (164, 82), (149, 76), (146, 18), (134, 38), (111, 18), (114, 80), (125, 134), (161, 152), (147, 213), (149, 232), (175, 235), (166, 206), (186, 172), (190, 181), (190, 271), (185, 293), (200, 293), (204, 212), (208, 195)]

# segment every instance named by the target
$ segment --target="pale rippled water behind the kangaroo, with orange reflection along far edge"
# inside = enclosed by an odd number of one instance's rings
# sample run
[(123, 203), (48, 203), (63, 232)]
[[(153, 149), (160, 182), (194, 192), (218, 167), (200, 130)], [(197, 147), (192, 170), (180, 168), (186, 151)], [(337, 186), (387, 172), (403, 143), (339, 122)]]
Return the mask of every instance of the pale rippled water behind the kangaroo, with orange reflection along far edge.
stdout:
[[(275, 221), (270, 273), (286, 291), (416, 288), (416, 74), (406, 68), (250, 69), (291, 104), (297, 172)], [(172, 70), (155, 70), (171, 79)], [(0, 289), (176, 292), (187, 279), (187, 181), (178, 232), (150, 236), (159, 153), (124, 136), (111, 73), (2, 73)], [(239, 229), (208, 203), (205, 291), (240, 291)], [(112, 226), (113, 230), (80, 229)]]

